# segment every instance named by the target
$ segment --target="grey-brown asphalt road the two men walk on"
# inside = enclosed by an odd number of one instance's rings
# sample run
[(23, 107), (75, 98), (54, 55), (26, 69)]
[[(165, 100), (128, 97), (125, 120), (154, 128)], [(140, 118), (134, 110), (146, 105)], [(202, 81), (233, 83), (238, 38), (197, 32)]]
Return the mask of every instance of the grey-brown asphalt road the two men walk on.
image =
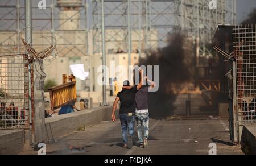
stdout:
[[(133, 146), (122, 148), (119, 121), (104, 121), (80, 128), (52, 144), (47, 144), (47, 154), (102, 154), (102, 155), (208, 155), (209, 144), (216, 143), (218, 155), (243, 154), (229, 141), (228, 120), (193, 118), (187, 120), (150, 119), (149, 148)], [(136, 135), (137, 136), (137, 135)], [(136, 136), (134, 141), (136, 141)], [(70, 150), (70, 147), (73, 149)], [(80, 148), (77, 150), (77, 148)], [(37, 153), (24, 150), (24, 153)]]

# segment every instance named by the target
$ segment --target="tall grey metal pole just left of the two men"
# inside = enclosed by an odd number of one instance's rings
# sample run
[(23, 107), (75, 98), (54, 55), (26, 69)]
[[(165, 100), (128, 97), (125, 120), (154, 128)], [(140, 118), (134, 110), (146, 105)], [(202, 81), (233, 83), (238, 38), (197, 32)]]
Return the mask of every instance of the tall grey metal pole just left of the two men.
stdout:
[(101, 0), (101, 42), (102, 42), (102, 74), (103, 74), (103, 86), (102, 86), (102, 104), (101, 106), (107, 106), (106, 103), (106, 43), (105, 43), (105, 15), (104, 15), (104, 0)]

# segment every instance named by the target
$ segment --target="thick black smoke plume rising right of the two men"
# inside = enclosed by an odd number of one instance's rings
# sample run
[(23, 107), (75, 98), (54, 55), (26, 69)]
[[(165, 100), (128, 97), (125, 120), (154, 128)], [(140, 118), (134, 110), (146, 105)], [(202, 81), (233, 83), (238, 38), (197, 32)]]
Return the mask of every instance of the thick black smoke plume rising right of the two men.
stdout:
[[(148, 93), (148, 104), (152, 118), (164, 118), (172, 115), (177, 97), (176, 90), (191, 78), (191, 67), (186, 59), (181, 34), (171, 35), (168, 46), (150, 51), (140, 65), (159, 65), (159, 90)], [(193, 52), (190, 52), (193, 55)], [(154, 74), (153, 74), (154, 76)]]

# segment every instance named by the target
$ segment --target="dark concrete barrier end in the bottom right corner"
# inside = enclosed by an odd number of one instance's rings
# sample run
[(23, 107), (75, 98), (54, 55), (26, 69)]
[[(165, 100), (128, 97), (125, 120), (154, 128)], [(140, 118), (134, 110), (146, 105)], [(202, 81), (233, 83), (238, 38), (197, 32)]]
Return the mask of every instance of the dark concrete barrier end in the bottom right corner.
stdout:
[(256, 126), (243, 126), (241, 144), (247, 155), (256, 155)]

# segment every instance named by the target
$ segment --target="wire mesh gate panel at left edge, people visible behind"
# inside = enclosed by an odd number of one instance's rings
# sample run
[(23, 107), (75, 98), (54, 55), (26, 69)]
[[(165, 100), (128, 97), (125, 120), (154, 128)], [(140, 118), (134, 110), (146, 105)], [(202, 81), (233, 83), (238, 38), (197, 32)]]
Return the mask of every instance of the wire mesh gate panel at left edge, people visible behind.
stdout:
[(28, 55), (0, 56), (0, 129), (28, 129)]

